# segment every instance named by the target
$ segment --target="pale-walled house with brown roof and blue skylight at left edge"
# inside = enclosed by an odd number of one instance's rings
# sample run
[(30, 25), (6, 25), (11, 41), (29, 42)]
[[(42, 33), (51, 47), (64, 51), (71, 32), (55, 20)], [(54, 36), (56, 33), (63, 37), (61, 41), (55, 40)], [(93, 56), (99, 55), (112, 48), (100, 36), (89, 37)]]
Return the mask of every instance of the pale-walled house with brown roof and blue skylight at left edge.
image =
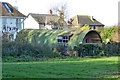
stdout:
[(0, 15), (2, 25), (0, 27), (3, 40), (14, 41), (17, 32), (24, 29), (24, 19), (27, 17), (7, 2), (0, 2), (0, 8), (0, 12), (2, 12)]

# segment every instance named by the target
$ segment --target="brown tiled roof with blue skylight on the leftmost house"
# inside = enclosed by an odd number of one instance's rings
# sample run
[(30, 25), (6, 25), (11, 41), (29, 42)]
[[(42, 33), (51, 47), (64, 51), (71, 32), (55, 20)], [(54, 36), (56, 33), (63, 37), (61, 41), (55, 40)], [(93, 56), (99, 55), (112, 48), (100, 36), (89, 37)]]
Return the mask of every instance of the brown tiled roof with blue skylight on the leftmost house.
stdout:
[[(7, 7), (5, 7), (7, 5)], [(0, 12), (2, 12), (2, 16), (16, 16), (16, 17), (26, 17), (24, 14), (16, 10), (12, 5), (6, 2), (0, 2)], [(10, 10), (10, 12), (9, 12)]]

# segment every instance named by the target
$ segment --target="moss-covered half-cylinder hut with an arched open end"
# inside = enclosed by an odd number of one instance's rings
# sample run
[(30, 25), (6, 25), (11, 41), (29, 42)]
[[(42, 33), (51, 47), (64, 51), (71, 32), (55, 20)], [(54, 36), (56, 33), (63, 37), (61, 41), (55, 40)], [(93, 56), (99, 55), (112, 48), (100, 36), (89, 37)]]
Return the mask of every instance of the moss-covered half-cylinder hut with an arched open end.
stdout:
[(59, 44), (76, 46), (82, 43), (102, 43), (101, 36), (95, 30), (24, 29), (18, 33), (16, 41), (50, 47), (55, 47)]

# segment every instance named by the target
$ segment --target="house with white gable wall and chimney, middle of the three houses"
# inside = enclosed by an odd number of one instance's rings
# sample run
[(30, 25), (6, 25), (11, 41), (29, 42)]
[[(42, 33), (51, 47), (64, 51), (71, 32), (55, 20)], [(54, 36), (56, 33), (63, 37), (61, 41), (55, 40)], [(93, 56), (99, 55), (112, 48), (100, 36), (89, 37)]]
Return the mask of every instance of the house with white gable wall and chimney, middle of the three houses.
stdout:
[[(61, 27), (59, 27), (59, 21), (61, 21), (60, 17), (56, 14), (52, 14), (52, 10), (49, 10), (49, 14), (29, 13), (28, 18), (25, 20), (25, 28), (61, 29)], [(64, 20), (63, 22), (65, 23)]]

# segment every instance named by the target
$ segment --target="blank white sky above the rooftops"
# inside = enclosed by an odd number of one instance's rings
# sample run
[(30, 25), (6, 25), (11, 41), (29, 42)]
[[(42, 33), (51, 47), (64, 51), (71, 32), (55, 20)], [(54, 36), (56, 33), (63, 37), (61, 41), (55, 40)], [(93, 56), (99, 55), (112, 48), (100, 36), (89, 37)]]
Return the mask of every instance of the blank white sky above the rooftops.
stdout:
[(29, 13), (47, 14), (49, 9), (66, 3), (69, 18), (75, 15), (89, 15), (105, 26), (118, 24), (118, 2), (120, 0), (0, 0), (18, 6), (18, 10)]

